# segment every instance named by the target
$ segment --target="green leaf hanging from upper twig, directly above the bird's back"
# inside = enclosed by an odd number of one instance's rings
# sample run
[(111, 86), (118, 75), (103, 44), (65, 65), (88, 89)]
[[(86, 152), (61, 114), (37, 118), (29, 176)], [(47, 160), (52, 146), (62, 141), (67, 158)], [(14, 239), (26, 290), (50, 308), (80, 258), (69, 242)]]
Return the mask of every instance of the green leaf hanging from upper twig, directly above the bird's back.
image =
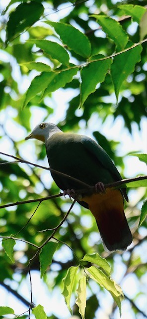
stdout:
[[(101, 58), (101, 55), (99, 56)], [(102, 56), (103, 57), (103, 56)], [(112, 63), (111, 59), (90, 62), (81, 70), (80, 107), (87, 97), (96, 91), (96, 85), (105, 80), (107, 71)]]

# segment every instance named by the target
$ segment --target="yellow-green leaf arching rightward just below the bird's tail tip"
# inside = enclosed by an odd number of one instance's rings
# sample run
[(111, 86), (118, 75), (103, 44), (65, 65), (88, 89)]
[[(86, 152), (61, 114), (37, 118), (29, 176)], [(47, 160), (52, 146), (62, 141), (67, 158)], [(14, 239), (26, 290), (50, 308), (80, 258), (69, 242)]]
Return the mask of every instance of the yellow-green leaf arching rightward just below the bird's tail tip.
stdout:
[(110, 277), (111, 267), (107, 263), (106, 259), (101, 257), (98, 253), (86, 254), (81, 260), (88, 261), (101, 267), (106, 272), (107, 276)]

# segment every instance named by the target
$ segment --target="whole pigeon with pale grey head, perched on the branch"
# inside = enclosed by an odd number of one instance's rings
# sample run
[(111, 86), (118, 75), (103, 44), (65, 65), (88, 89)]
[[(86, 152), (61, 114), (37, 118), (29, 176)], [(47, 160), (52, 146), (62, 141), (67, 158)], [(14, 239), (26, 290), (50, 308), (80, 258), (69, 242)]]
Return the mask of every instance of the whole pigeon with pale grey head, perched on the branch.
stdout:
[[(108, 251), (125, 251), (132, 243), (132, 234), (124, 213), (124, 198), (128, 201), (126, 188), (104, 188), (104, 184), (121, 180), (122, 177), (108, 154), (93, 139), (75, 133), (64, 133), (53, 123), (41, 123), (25, 138), (45, 143), (51, 175), (57, 186), (69, 193), (83, 191), (83, 184), (95, 185), (95, 190), (84, 192), (77, 202), (89, 209)], [(52, 169), (70, 175), (57, 174)], [(76, 179), (81, 181), (78, 182)], [(67, 192), (66, 192), (67, 190)]]

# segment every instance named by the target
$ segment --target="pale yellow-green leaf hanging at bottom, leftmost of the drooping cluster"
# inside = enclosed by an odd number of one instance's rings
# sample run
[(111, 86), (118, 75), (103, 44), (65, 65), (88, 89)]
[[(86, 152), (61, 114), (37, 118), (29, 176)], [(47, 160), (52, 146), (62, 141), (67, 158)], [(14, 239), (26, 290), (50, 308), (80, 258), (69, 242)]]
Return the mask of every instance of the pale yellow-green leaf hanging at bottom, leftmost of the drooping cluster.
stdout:
[(64, 290), (62, 294), (65, 298), (65, 302), (71, 314), (72, 314), (72, 309), (70, 307), (70, 300), (71, 300), (71, 296), (74, 289), (75, 275), (77, 273), (77, 269), (78, 269), (78, 266), (70, 267), (67, 271), (66, 277), (63, 279)]

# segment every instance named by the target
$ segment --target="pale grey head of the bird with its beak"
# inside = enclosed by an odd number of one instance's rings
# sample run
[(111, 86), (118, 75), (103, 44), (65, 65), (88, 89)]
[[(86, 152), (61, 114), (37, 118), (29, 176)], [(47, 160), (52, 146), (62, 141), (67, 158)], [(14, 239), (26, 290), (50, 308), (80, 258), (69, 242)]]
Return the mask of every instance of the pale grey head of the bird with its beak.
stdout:
[(45, 143), (49, 137), (57, 132), (61, 132), (61, 130), (55, 124), (43, 122), (37, 125), (25, 140), (37, 139)]

